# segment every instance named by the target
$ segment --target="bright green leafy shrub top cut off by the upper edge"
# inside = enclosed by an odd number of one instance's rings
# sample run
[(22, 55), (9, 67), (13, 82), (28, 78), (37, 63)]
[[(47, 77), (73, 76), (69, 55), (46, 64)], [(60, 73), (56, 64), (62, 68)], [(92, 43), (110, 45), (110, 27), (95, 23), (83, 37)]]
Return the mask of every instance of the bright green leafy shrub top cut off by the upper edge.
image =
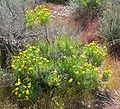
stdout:
[(72, 0), (74, 7), (80, 8), (80, 16), (95, 17), (101, 15), (101, 12), (107, 5), (106, 0)]

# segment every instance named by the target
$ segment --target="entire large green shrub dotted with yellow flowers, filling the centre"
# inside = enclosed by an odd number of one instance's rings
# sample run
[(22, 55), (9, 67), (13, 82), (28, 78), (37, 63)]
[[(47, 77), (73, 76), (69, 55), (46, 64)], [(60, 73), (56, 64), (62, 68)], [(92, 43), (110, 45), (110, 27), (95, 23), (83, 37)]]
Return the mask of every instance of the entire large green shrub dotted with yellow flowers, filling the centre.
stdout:
[(32, 99), (40, 92), (66, 86), (90, 91), (102, 80), (98, 67), (104, 61), (105, 47), (96, 42), (83, 46), (68, 34), (56, 38), (54, 44), (46, 43), (40, 40), (36, 46), (28, 44), (13, 56), (11, 66), (16, 79), (13, 92), (19, 97)]

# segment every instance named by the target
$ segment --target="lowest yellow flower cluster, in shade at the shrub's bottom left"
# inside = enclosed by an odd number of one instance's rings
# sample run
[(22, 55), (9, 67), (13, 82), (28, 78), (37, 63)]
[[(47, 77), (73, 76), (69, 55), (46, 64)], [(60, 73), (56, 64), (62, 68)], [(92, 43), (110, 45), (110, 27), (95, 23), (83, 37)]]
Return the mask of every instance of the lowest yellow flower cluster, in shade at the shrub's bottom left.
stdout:
[(30, 94), (30, 88), (31, 88), (31, 79), (25, 78), (23, 81), (18, 78), (18, 82), (15, 83), (15, 86), (17, 86), (12, 92), (18, 95), (18, 97), (25, 97), (26, 100), (29, 99)]

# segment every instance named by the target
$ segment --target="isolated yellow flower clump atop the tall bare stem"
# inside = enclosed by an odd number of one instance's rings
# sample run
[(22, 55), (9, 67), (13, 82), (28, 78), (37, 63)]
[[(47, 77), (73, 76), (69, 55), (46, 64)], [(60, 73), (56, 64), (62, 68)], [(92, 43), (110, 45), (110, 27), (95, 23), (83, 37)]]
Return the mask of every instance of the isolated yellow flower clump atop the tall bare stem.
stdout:
[(32, 28), (36, 24), (44, 25), (51, 19), (50, 10), (44, 5), (38, 5), (34, 10), (28, 10), (25, 13), (27, 20), (26, 27)]

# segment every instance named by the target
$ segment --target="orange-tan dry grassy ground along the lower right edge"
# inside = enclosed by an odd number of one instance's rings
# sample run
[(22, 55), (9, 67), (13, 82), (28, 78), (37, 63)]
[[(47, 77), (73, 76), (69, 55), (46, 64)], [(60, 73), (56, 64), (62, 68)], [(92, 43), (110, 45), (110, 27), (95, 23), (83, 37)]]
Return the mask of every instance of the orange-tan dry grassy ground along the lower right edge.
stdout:
[(112, 105), (107, 104), (108, 109), (120, 108), (120, 61), (106, 56), (104, 64), (101, 66), (101, 70), (105, 67), (111, 66), (112, 74), (104, 89), (109, 90), (111, 93)]

